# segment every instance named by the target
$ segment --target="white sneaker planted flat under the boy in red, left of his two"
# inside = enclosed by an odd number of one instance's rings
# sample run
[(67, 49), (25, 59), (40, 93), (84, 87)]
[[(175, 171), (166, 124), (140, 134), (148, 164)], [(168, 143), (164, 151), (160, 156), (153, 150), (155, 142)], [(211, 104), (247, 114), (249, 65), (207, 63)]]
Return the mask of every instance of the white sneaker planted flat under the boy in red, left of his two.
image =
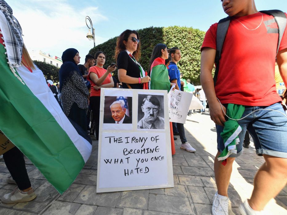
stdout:
[(212, 215), (228, 215), (229, 198), (221, 196), (217, 192), (213, 197)]

